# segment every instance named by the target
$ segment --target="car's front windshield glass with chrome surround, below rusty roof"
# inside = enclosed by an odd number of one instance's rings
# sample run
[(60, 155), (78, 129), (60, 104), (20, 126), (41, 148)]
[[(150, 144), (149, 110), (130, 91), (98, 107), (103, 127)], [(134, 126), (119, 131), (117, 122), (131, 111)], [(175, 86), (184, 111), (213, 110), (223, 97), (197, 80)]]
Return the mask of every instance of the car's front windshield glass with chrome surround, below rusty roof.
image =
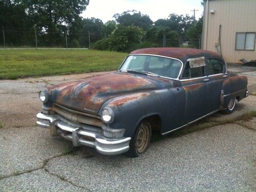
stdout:
[(131, 70), (168, 78), (177, 78), (181, 66), (182, 64), (180, 61), (166, 57), (152, 55), (130, 55), (125, 59), (119, 70)]

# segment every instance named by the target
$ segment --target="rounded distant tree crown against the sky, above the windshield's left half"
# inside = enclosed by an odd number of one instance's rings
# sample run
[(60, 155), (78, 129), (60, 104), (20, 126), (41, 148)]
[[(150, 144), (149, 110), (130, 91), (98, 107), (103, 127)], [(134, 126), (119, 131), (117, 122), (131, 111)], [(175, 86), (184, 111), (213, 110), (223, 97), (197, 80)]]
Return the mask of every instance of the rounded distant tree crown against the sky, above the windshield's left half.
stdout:
[(153, 21), (148, 15), (143, 15), (136, 10), (125, 11), (122, 14), (116, 13), (113, 17), (118, 24), (122, 24), (123, 26), (136, 26), (143, 30), (148, 29), (153, 24)]

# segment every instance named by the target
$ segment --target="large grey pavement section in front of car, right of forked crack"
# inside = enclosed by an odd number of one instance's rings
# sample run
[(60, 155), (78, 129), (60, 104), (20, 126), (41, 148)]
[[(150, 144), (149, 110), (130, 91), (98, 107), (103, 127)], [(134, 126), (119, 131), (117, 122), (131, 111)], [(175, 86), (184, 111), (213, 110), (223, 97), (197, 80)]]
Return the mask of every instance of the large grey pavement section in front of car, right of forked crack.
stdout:
[(226, 124), (154, 142), (139, 158), (83, 147), (46, 168), (91, 191), (254, 191), (255, 139), (254, 131)]

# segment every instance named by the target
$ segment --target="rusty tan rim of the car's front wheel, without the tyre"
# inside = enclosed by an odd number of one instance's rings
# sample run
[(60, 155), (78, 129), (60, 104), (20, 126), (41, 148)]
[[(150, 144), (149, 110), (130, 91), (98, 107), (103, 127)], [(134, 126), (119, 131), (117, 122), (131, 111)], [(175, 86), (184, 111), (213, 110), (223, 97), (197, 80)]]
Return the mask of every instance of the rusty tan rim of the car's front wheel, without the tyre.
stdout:
[(139, 153), (143, 153), (145, 151), (149, 138), (150, 130), (146, 125), (142, 125), (136, 140), (136, 147)]

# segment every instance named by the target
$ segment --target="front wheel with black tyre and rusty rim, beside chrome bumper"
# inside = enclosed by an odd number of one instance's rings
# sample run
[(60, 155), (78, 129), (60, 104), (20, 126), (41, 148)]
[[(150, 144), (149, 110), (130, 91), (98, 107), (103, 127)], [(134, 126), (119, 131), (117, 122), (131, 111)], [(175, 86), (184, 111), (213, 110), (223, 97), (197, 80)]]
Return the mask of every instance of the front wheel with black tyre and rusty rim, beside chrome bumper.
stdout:
[(148, 121), (142, 121), (136, 129), (132, 140), (130, 141), (130, 149), (125, 154), (129, 157), (138, 157), (145, 153), (151, 141), (151, 124)]

